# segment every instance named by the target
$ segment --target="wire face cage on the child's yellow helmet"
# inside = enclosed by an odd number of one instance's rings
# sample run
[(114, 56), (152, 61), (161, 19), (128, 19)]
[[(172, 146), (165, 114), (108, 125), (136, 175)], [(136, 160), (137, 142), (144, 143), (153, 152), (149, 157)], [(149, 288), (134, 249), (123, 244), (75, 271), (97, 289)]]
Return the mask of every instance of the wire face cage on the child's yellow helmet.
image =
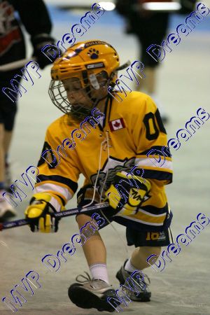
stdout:
[[(104, 80), (102, 81), (102, 83), (98, 83), (98, 88), (106, 87), (106, 90), (107, 90), (107, 87), (109, 86), (109, 83), (110, 83), (110, 78), (108, 78), (108, 75), (105, 71), (103, 72), (106, 74), (106, 78), (104, 77)], [(97, 78), (97, 76), (102, 76), (102, 73), (98, 73), (95, 77)], [(89, 81), (90, 80), (88, 80), (88, 82)], [(89, 97), (90, 105), (91, 105), (90, 107), (83, 106), (83, 104), (80, 104), (80, 99), (77, 99), (77, 105), (73, 106), (73, 104), (69, 102), (66, 90), (61, 80), (51, 80), (48, 93), (50, 95), (50, 99), (52, 100), (52, 103), (60, 111), (62, 111), (63, 113), (70, 114), (71, 116), (73, 116), (73, 118), (80, 120), (80, 119), (85, 118), (86, 116), (91, 115), (92, 109), (94, 109), (94, 107), (98, 104), (99, 101), (106, 98), (108, 94), (107, 92), (105, 97), (104, 96), (99, 97), (99, 98), (92, 97), (92, 92), (94, 88), (92, 87), (90, 83), (85, 85), (85, 87), (81, 88), (80, 90), (81, 91), (83, 90), (85, 94), (87, 95), (87, 97)]]

